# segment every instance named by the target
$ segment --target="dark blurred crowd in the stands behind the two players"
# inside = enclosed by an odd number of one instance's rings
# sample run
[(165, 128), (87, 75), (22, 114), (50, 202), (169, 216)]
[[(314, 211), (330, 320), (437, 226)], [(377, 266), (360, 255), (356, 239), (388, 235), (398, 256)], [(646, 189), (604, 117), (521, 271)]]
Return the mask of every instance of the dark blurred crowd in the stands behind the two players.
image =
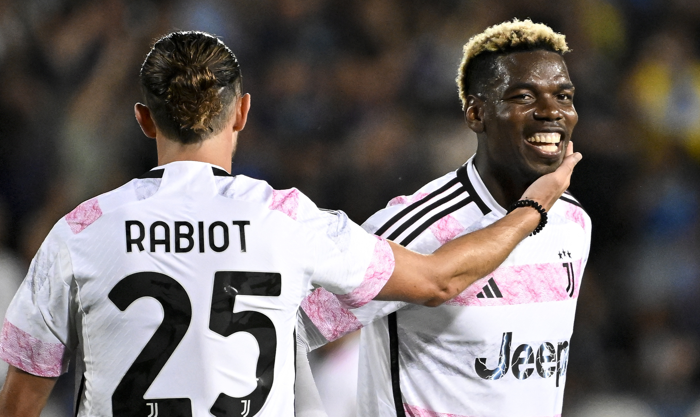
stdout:
[[(157, 165), (133, 106), (158, 36), (239, 58), (235, 174), (361, 223), (475, 151), (461, 47), (514, 17), (573, 49), (570, 190), (594, 227), (563, 416), (700, 416), (699, 0), (0, 0), (0, 314), (55, 221)], [(356, 335), (311, 360), (330, 417), (354, 416)], [(71, 415), (72, 378), (44, 416)]]

